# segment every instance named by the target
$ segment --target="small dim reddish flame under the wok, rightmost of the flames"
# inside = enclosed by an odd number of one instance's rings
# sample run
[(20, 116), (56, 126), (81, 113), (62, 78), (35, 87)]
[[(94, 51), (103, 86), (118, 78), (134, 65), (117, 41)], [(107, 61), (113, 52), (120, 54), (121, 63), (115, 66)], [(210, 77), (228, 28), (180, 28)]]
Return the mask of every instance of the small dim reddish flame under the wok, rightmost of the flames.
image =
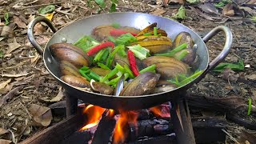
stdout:
[(160, 116), (162, 118), (170, 118), (170, 110), (168, 106), (154, 106), (150, 108), (150, 111), (156, 116)]

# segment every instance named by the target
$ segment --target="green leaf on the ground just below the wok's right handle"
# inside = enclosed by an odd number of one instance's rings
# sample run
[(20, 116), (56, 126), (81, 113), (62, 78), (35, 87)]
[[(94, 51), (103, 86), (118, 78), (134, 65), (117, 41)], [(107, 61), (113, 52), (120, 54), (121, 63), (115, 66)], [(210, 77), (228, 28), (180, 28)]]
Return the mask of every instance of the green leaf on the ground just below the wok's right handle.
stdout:
[(213, 71), (222, 72), (226, 68), (230, 68), (231, 70), (244, 70), (245, 66), (243, 65), (242, 60), (239, 60), (239, 62), (237, 64), (233, 64), (233, 63), (220, 63), (220, 64), (218, 64), (218, 66), (216, 66), (214, 68)]

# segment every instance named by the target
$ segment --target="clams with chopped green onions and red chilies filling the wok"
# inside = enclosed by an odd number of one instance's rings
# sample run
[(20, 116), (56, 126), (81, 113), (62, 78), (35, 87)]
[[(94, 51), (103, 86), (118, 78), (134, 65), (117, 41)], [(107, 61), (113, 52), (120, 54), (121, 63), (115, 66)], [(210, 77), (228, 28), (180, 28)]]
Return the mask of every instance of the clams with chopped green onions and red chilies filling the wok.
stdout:
[(77, 42), (54, 43), (61, 79), (81, 90), (113, 95), (124, 76), (120, 96), (157, 94), (186, 85), (202, 74), (191, 35), (170, 39), (150, 24), (143, 30), (118, 24), (97, 26)]

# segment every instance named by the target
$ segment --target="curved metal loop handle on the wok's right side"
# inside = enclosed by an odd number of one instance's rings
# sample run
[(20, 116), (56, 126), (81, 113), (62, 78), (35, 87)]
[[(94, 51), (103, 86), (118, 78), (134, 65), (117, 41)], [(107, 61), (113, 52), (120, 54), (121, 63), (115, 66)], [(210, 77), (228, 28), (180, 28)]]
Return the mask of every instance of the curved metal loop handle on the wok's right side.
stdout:
[(212, 62), (209, 63), (207, 69), (200, 75), (199, 78), (195, 81), (200, 82), (202, 78), (205, 78), (206, 74), (210, 71), (213, 70), (220, 62), (226, 58), (226, 55), (229, 54), (230, 48), (233, 42), (233, 36), (231, 30), (227, 26), (217, 26), (213, 30), (210, 30), (206, 36), (202, 38), (203, 42), (208, 42), (210, 38), (213, 38), (214, 35), (218, 34), (218, 32), (223, 31), (225, 34), (225, 44), (223, 47), (223, 50)]

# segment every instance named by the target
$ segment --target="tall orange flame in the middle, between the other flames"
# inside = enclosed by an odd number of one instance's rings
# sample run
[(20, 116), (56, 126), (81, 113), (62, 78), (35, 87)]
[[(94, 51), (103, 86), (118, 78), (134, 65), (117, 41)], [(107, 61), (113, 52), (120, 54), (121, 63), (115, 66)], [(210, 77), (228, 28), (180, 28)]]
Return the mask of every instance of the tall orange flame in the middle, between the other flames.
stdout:
[(123, 143), (126, 140), (128, 135), (127, 131), (127, 124), (133, 123), (137, 129), (137, 118), (138, 114), (133, 111), (120, 111), (121, 117), (118, 118), (116, 126), (114, 128), (114, 135), (113, 135), (113, 142), (114, 143)]

